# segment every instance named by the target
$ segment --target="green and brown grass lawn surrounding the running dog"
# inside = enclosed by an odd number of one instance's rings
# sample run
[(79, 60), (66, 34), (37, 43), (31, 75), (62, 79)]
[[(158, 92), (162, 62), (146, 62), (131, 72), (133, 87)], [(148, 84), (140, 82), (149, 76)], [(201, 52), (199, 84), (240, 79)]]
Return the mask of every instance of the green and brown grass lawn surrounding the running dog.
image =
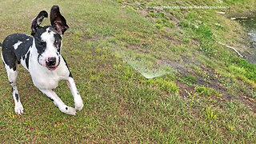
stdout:
[[(18, 116), (0, 66), (1, 143), (256, 143), (256, 66), (219, 44), (249, 51), (242, 27), (216, 10), (147, 8), (230, 6), (223, 11), (234, 14), (254, 10), (254, 1), (1, 3), (0, 42), (30, 34), (40, 10), (60, 6), (70, 26), (62, 55), (84, 102), (76, 116), (62, 114), (19, 66)], [(145, 71), (162, 76), (147, 79)], [(74, 106), (66, 82), (55, 91)]]

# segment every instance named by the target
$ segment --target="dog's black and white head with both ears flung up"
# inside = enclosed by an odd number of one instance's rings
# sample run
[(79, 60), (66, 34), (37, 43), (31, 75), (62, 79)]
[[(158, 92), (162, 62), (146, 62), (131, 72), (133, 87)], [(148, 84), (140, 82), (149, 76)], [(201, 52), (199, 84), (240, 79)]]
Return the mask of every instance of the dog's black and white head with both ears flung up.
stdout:
[(31, 35), (38, 50), (38, 63), (46, 66), (48, 70), (55, 70), (60, 62), (62, 34), (69, 26), (66, 25), (66, 19), (60, 13), (58, 6), (53, 6), (50, 10), (51, 26), (40, 26), (43, 18), (48, 18), (45, 10), (32, 20)]

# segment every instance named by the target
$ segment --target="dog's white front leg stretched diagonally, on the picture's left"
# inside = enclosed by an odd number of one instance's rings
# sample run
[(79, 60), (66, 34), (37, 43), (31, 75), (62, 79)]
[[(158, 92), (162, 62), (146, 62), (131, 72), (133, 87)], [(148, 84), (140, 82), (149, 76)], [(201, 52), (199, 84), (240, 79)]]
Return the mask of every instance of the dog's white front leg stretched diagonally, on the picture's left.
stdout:
[(54, 105), (58, 107), (65, 114), (75, 115), (76, 110), (73, 107), (66, 106), (62, 102), (61, 98), (58, 98), (58, 95), (53, 90), (41, 90), (42, 94), (45, 94), (51, 101), (54, 102)]

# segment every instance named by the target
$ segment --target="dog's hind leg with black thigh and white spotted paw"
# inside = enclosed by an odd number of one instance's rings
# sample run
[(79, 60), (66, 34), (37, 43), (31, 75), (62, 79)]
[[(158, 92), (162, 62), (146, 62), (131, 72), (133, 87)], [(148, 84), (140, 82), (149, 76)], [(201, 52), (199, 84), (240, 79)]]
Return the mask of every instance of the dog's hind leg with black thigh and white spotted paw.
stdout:
[(12, 86), (12, 93), (14, 97), (14, 102), (15, 102), (15, 112), (17, 114), (23, 114), (23, 106), (22, 102), (20, 101), (19, 95), (18, 95), (18, 88), (17, 88), (17, 58), (15, 57), (14, 54), (6, 54), (4, 53), (5, 56), (8, 56), (8, 58), (4, 58), (2, 55), (2, 61), (4, 62), (4, 65), (6, 67), (7, 75), (8, 75), (8, 80), (10, 82), (10, 85)]

